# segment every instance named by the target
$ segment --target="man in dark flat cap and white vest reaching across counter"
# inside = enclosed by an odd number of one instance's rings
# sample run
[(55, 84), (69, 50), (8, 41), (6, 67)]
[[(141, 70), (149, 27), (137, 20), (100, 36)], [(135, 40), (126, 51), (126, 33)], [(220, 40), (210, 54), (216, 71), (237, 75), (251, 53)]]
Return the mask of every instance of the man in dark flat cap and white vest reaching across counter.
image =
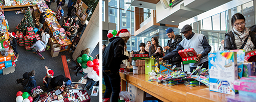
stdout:
[(159, 58), (159, 61), (173, 58), (178, 54), (179, 50), (194, 48), (198, 54), (195, 61), (198, 63), (190, 63), (190, 72), (202, 64), (202, 68), (208, 69), (208, 53), (211, 50), (211, 46), (209, 45), (206, 37), (202, 34), (192, 32), (192, 27), (188, 24), (184, 25), (180, 33), (183, 33), (185, 38), (180, 42), (176, 49), (168, 53), (166, 56)]

